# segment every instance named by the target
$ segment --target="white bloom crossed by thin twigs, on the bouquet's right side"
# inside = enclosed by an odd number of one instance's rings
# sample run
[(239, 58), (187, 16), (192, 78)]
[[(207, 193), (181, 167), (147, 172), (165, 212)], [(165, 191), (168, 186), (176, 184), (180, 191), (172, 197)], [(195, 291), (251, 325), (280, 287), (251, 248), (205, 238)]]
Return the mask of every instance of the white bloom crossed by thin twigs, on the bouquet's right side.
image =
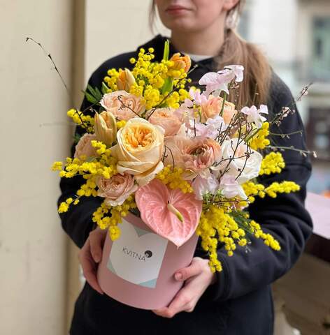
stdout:
[[(222, 144), (222, 158), (225, 161), (220, 163), (220, 170), (227, 169), (227, 165), (231, 158), (227, 174), (234, 176), (238, 184), (256, 178), (259, 175), (262, 156), (258, 151), (252, 150), (238, 137), (226, 140)], [(238, 144), (239, 143), (239, 144)], [(236, 149), (237, 148), (237, 149)]]

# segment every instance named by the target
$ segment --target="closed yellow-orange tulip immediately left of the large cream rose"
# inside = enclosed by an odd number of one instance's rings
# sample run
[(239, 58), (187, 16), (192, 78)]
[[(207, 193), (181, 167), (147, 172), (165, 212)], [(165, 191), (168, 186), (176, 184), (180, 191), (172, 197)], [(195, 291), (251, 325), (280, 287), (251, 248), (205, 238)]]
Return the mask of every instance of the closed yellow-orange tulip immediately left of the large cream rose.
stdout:
[(112, 145), (115, 142), (117, 134), (117, 124), (113, 113), (101, 112), (95, 113), (94, 116), (94, 131), (97, 140), (107, 145)]

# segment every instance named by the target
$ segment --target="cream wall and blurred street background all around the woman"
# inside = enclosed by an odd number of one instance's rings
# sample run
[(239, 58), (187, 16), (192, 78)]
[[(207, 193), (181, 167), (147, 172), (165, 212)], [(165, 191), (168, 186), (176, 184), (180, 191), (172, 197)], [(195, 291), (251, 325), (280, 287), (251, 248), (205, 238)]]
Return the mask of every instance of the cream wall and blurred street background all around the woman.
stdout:
[[(149, 0), (0, 0), (0, 334), (67, 334), (81, 288), (78, 249), (57, 215), (53, 161), (69, 155), (71, 100), (92, 72), (154, 34)], [(330, 193), (330, 1), (248, 0), (238, 27), (298, 96), (309, 149), (309, 191)], [(157, 24), (155, 34), (168, 36)], [(330, 218), (306, 253), (275, 283), (276, 334), (330, 334)], [(325, 229), (325, 230), (324, 230)], [(327, 230), (328, 229), (328, 230)]]

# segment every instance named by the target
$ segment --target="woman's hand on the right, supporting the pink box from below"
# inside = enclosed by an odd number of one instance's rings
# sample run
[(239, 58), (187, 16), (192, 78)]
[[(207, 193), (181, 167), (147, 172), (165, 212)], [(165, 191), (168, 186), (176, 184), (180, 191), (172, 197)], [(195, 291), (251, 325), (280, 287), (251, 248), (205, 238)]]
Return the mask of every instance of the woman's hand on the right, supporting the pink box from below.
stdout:
[(216, 276), (210, 271), (208, 260), (195, 257), (192, 264), (175, 272), (177, 281), (185, 281), (183, 288), (177, 293), (168, 307), (153, 312), (164, 318), (173, 318), (180, 312), (192, 312), (203, 292), (210, 284), (215, 283)]

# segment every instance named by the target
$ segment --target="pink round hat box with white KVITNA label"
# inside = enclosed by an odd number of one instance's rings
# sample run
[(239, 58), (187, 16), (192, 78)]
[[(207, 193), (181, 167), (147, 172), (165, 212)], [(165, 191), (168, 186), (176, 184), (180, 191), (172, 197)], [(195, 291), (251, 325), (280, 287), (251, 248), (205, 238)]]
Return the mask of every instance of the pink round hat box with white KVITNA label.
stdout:
[(180, 246), (155, 234), (129, 213), (119, 225), (120, 237), (111, 241), (107, 234), (97, 278), (109, 297), (136, 308), (168, 306), (183, 283), (174, 273), (187, 267), (194, 256), (198, 236), (194, 233)]

